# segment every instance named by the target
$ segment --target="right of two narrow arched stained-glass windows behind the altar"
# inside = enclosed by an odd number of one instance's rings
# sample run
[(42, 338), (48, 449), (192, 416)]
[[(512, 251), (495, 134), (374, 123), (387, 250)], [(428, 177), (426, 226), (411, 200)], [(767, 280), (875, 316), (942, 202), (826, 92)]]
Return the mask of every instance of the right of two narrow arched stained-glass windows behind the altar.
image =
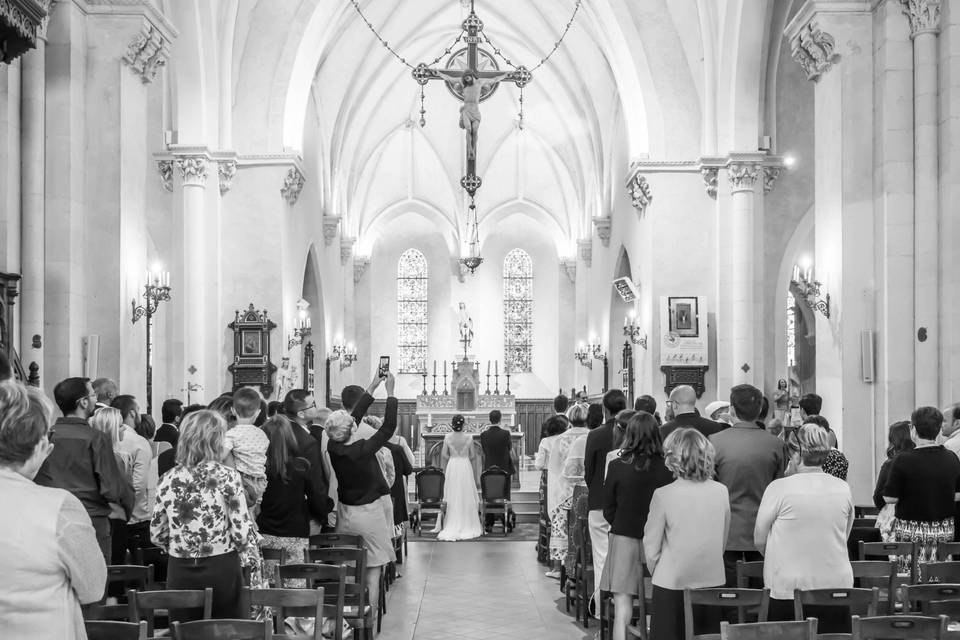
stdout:
[(523, 249), (513, 249), (503, 259), (503, 350), (507, 371), (531, 370), (533, 261)]

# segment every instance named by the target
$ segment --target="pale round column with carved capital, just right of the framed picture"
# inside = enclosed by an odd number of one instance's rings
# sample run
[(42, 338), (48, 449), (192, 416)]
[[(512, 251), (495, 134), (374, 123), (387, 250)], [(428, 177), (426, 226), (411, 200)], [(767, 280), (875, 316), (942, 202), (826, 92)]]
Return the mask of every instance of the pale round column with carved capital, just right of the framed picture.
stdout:
[[(755, 384), (757, 360), (756, 331), (756, 249), (754, 247), (755, 205), (757, 180), (761, 167), (755, 160), (738, 158), (732, 154), (727, 165), (730, 183), (730, 298), (732, 359), (729, 372), (732, 385)], [(722, 249), (722, 248), (721, 248)], [(762, 383), (761, 383), (762, 384)], [(724, 390), (721, 390), (721, 392)]]

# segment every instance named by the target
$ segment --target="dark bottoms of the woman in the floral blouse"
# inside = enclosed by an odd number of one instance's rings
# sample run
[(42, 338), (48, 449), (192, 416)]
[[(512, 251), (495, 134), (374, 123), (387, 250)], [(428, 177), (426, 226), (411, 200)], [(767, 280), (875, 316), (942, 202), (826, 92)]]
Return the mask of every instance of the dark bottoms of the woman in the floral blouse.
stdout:
[[(167, 589), (213, 589), (214, 618), (249, 618), (240, 605), (243, 572), (236, 551), (206, 558), (174, 558), (167, 563)], [(173, 609), (170, 619), (198, 620), (202, 612)]]

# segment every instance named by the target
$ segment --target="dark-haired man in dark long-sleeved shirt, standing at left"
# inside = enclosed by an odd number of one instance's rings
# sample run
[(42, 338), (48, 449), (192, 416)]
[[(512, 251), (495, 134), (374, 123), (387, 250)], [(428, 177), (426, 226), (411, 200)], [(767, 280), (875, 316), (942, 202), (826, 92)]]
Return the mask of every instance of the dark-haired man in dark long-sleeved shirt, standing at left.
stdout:
[(110, 503), (133, 512), (133, 487), (117, 468), (113, 444), (87, 420), (96, 410), (97, 393), (89, 378), (67, 378), (53, 388), (53, 398), (63, 412), (50, 429), (53, 452), (34, 479), (44, 487), (66, 489), (87, 510), (104, 560), (110, 564)]

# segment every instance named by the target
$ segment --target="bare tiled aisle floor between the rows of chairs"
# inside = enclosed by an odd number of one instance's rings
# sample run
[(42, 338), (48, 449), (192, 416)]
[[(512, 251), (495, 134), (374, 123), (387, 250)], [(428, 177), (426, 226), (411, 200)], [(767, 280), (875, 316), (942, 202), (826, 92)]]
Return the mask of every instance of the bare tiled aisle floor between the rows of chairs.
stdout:
[(585, 640), (532, 542), (411, 542), (379, 640)]

